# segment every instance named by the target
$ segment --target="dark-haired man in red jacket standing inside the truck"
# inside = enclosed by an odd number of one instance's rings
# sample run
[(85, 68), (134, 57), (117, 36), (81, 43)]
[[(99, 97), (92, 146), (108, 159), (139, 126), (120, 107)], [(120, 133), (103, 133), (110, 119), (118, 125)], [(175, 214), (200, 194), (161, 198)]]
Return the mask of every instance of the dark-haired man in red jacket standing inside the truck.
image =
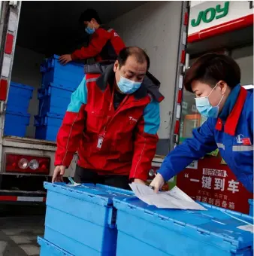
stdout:
[(88, 47), (75, 50), (72, 54), (60, 56), (59, 61), (66, 65), (77, 59), (89, 59), (95, 57), (95, 61), (116, 60), (120, 50), (125, 48), (122, 38), (114, 29), (106, 29), (101, 26), (101, 20), (93, 9), (87, 9), (81, 14), (79, 23), (85, 26), (86, 33), (92, 35)]

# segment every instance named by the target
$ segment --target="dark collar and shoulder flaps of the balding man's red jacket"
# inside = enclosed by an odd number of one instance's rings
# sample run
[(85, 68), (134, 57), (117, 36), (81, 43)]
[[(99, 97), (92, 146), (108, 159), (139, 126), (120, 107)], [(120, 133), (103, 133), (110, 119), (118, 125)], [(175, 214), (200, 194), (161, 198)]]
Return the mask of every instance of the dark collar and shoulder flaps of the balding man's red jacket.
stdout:
[[(100, 74), (96, 84), (102, 91), (106, 90), (107, 84), (115, 78), (113, 63), (112, 61), (104, 61), (84, 67), (86, 74)], [(159, 87), (160, 82), (150, 72), (147, 72), (141, 87), (134, 93), (135, 99), (142, 99), (149, 93), (157, 102), (162, 102), (164, 96), (159, 92)]]

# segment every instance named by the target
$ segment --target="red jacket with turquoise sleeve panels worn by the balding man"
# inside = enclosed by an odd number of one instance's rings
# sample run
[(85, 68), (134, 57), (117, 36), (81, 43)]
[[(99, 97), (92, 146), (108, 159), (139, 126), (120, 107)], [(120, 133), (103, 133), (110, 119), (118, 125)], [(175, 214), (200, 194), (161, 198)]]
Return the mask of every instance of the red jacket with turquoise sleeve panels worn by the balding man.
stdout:
[[(98, 174), (147, 179), (156, 153), (159, 129), (159, 81), (149, 75), (139, 90), (113, 108), (113, 65), (85, 66), (85, 78), (57, 136), (55, 165), (69, 166), (77, 151), (78, 165)], [(156, 84), (155, 84), (156, 83)]]

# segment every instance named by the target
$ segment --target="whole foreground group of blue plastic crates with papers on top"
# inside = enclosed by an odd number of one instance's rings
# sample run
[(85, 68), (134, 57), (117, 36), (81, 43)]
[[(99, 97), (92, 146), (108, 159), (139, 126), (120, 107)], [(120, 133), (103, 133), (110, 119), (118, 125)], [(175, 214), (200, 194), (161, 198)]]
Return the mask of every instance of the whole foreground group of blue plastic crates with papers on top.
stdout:
[(132, 191), (104, 185), (44, 183), (47, 212), (41, 256), (251, 256), (253, 217), (201, 203), (206, 210), (158, 209)]

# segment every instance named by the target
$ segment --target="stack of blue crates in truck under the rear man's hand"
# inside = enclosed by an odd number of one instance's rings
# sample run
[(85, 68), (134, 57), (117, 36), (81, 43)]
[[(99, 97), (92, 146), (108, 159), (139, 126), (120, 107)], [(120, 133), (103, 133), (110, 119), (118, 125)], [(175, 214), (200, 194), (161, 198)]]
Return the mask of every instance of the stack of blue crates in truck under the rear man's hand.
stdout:
[(84, 77), (83, 64), (62, 66), (59, 56), (46, 59), (41, 65), (42, 84), (38, 90), (39, 113), (35, 116), (35, 138), (56, 141), (56, 135), (71, 100)]

